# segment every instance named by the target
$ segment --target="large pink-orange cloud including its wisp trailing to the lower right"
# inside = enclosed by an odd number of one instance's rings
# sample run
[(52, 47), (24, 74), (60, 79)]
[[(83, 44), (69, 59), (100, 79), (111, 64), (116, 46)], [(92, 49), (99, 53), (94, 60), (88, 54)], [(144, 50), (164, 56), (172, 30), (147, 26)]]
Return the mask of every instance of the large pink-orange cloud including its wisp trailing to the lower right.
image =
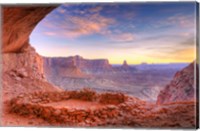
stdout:
[(106, 36), (113, 42), (130, 42), (135, 39), (132, 33), (123, 33), (120, 30), (112, 32), (109, 30), (108, 27), (115, 22), (114, 19), (103, 17), (99, 13), (92, 14), (89, 17), (68, 16), (63, 21), (59, 21), (59, 23), (46, 22), (45, 26), (51, 27), (54, 31), (44, 32), (44, 34), (74, 39), (97, 33)]

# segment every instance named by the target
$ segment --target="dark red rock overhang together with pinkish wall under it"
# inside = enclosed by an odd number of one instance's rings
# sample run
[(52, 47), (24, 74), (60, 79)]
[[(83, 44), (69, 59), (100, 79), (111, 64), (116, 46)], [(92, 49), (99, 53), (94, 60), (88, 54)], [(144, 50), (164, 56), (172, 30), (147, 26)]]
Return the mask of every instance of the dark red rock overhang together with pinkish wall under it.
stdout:
[(29, 35), (56, 6), (4, 6), (2, 45), (3, 101), (21, 93), (60, 90), (44, 76), (43, 59), (29, 44)]

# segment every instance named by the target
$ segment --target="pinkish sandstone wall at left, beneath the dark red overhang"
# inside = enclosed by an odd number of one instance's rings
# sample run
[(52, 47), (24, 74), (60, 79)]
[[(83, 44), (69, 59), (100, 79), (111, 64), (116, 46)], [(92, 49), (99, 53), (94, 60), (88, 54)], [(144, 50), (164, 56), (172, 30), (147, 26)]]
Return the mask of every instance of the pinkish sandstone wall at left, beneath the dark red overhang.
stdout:
[(43, 59), (30, 46), (26, 51), (2, 54), (4, 101), (24, 92), (60, 90), (47, 82)]

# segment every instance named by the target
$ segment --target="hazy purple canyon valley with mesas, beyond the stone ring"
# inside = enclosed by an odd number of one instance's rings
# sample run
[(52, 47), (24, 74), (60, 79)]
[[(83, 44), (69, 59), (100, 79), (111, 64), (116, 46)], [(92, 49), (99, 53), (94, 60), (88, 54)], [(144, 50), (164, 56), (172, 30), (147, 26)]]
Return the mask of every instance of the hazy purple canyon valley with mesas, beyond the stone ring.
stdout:
[(122, 65), (111, 65), (107, 59), (91, 60), (78, 55), (44, 57), (43, 61), (47, 80), (64, 90), (90, 87), (97, 92), (123, 92), (146, 101), (156, 101), (175, 72), (187, 65), (155, 65), (157, 68), (153, 69), (151, 64), (128, 65), (124, 61)]

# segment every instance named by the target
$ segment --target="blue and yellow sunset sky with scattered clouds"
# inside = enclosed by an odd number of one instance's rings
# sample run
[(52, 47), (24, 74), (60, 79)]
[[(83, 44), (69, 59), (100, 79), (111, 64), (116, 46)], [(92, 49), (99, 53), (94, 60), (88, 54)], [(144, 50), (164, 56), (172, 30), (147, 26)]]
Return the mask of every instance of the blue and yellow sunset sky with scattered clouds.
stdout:
[(30, 43), (47, 57), (192, 62), (195, 29), (195, 2), (63, 4), (39, 22)]

